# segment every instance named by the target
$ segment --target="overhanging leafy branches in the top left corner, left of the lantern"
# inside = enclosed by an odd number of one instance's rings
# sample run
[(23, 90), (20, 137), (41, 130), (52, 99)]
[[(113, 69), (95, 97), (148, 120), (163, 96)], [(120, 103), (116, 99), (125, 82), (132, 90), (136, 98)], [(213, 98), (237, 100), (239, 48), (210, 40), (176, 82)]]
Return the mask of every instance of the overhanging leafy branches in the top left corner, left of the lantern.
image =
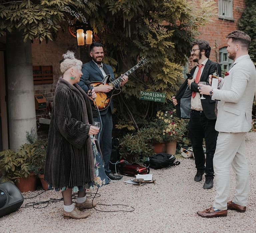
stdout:
[(86, 8), (86, 1), (71, 0), (26, 0), (1, 1), (0, 35), (19, 29), (24, 32), (24, 41), (52, 40), (57, 36), (63, 21), (71, 23), (74, 18), (85, 22), (80, 13)]

